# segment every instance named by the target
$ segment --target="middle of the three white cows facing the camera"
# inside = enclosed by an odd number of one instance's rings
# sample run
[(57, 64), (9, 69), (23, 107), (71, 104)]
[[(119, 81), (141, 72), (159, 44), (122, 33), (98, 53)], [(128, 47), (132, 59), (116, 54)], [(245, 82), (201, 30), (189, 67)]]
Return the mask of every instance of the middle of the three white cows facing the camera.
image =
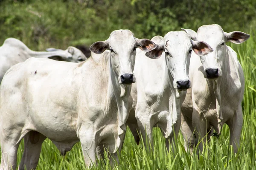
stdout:
[[(186, 89), (190, 88), (188, 74), (192, 49), (200, 56), (212, 51), (205, 42), (191, 40), (185, 31), (171, 31), (164, 38), (156, 36), (151, 40), (157, 48), (147, 53), (138, 51), (136, 55), (134, 74), (137, 82), (132, 86), (134, 103), (127, 121), (135, 141), (140, 141), (138, 130), (144, 144), (146, 136), (152, 144), (153, 127), (160, 127), (164, 137), (170, 140), (174, 137), (173, 125), (178, 134), (180, 107)], [(153, 60), (152, 57), (160, 58)], [(166, 146), (169, 149), (168, 140)]]

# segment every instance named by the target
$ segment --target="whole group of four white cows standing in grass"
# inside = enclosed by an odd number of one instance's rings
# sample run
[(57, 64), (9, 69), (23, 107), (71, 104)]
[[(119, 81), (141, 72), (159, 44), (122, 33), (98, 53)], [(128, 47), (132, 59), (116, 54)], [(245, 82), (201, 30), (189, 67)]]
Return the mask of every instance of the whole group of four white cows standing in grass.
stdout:
[(216, 24), (151, 40), (116, 30), (91, 45), (89, 59), (74, 47), (39, 52), (6, 39), (0, 47), (0, 170), (16, 169), (21, 139), (19, 170), (37, 167), (46, 138), (62, 155), (80, 141), (87, 167), (105, 149), (118, 159), (127, 126), (146, 149), (153, 127), (163, 132), (168, 150), (181, 130), (192, 153), (226, 123), (237, 152), (244, 74), (225, 43), (249, 37)]

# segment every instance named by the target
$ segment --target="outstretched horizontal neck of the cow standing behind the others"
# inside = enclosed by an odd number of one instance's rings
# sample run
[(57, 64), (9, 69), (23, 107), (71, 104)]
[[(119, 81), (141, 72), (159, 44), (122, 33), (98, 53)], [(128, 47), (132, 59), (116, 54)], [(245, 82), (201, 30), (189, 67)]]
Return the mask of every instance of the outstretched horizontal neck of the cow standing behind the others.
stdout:
[[(60, 56), (68, 58), (67, 55), (65, 55), (65, 52), (63, 50), (60, 51), (28, 51), (28, 57), (35, 57), (35, 58), (48, 58), (52, 56)], [(67, 53), (68, 54), (68, 53)]]

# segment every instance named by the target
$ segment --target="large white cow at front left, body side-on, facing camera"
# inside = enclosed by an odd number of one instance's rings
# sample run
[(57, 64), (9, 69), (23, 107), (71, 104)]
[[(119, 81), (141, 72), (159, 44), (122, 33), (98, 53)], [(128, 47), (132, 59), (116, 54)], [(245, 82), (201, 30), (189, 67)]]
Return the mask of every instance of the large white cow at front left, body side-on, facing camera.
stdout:
[(0, 170), (16, 168), (22, 138), (20, 170), (36, 168), (45, 138), (62, 154), (81, 141), (87, 166), (95, 162), (98, 146), (115, 153), (132, 105), (137, 47), (149, 51), (156, 45), (117, 30), (95, 42), (90, 50), (96, 54), (85, 62), (30, 58), (10, 68), (0, 86)]

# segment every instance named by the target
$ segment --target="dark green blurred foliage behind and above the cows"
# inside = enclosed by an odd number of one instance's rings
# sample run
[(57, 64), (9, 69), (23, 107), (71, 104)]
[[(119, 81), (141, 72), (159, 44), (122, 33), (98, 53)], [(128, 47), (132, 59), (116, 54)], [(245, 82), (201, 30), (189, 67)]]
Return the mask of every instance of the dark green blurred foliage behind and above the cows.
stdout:
[(1, 0), (0, 44), (8, 37), (34, 50), (91, 45), (116, 29), (138, 38), (217, 23), (225, 31), (256, 24), (255, 0)]

